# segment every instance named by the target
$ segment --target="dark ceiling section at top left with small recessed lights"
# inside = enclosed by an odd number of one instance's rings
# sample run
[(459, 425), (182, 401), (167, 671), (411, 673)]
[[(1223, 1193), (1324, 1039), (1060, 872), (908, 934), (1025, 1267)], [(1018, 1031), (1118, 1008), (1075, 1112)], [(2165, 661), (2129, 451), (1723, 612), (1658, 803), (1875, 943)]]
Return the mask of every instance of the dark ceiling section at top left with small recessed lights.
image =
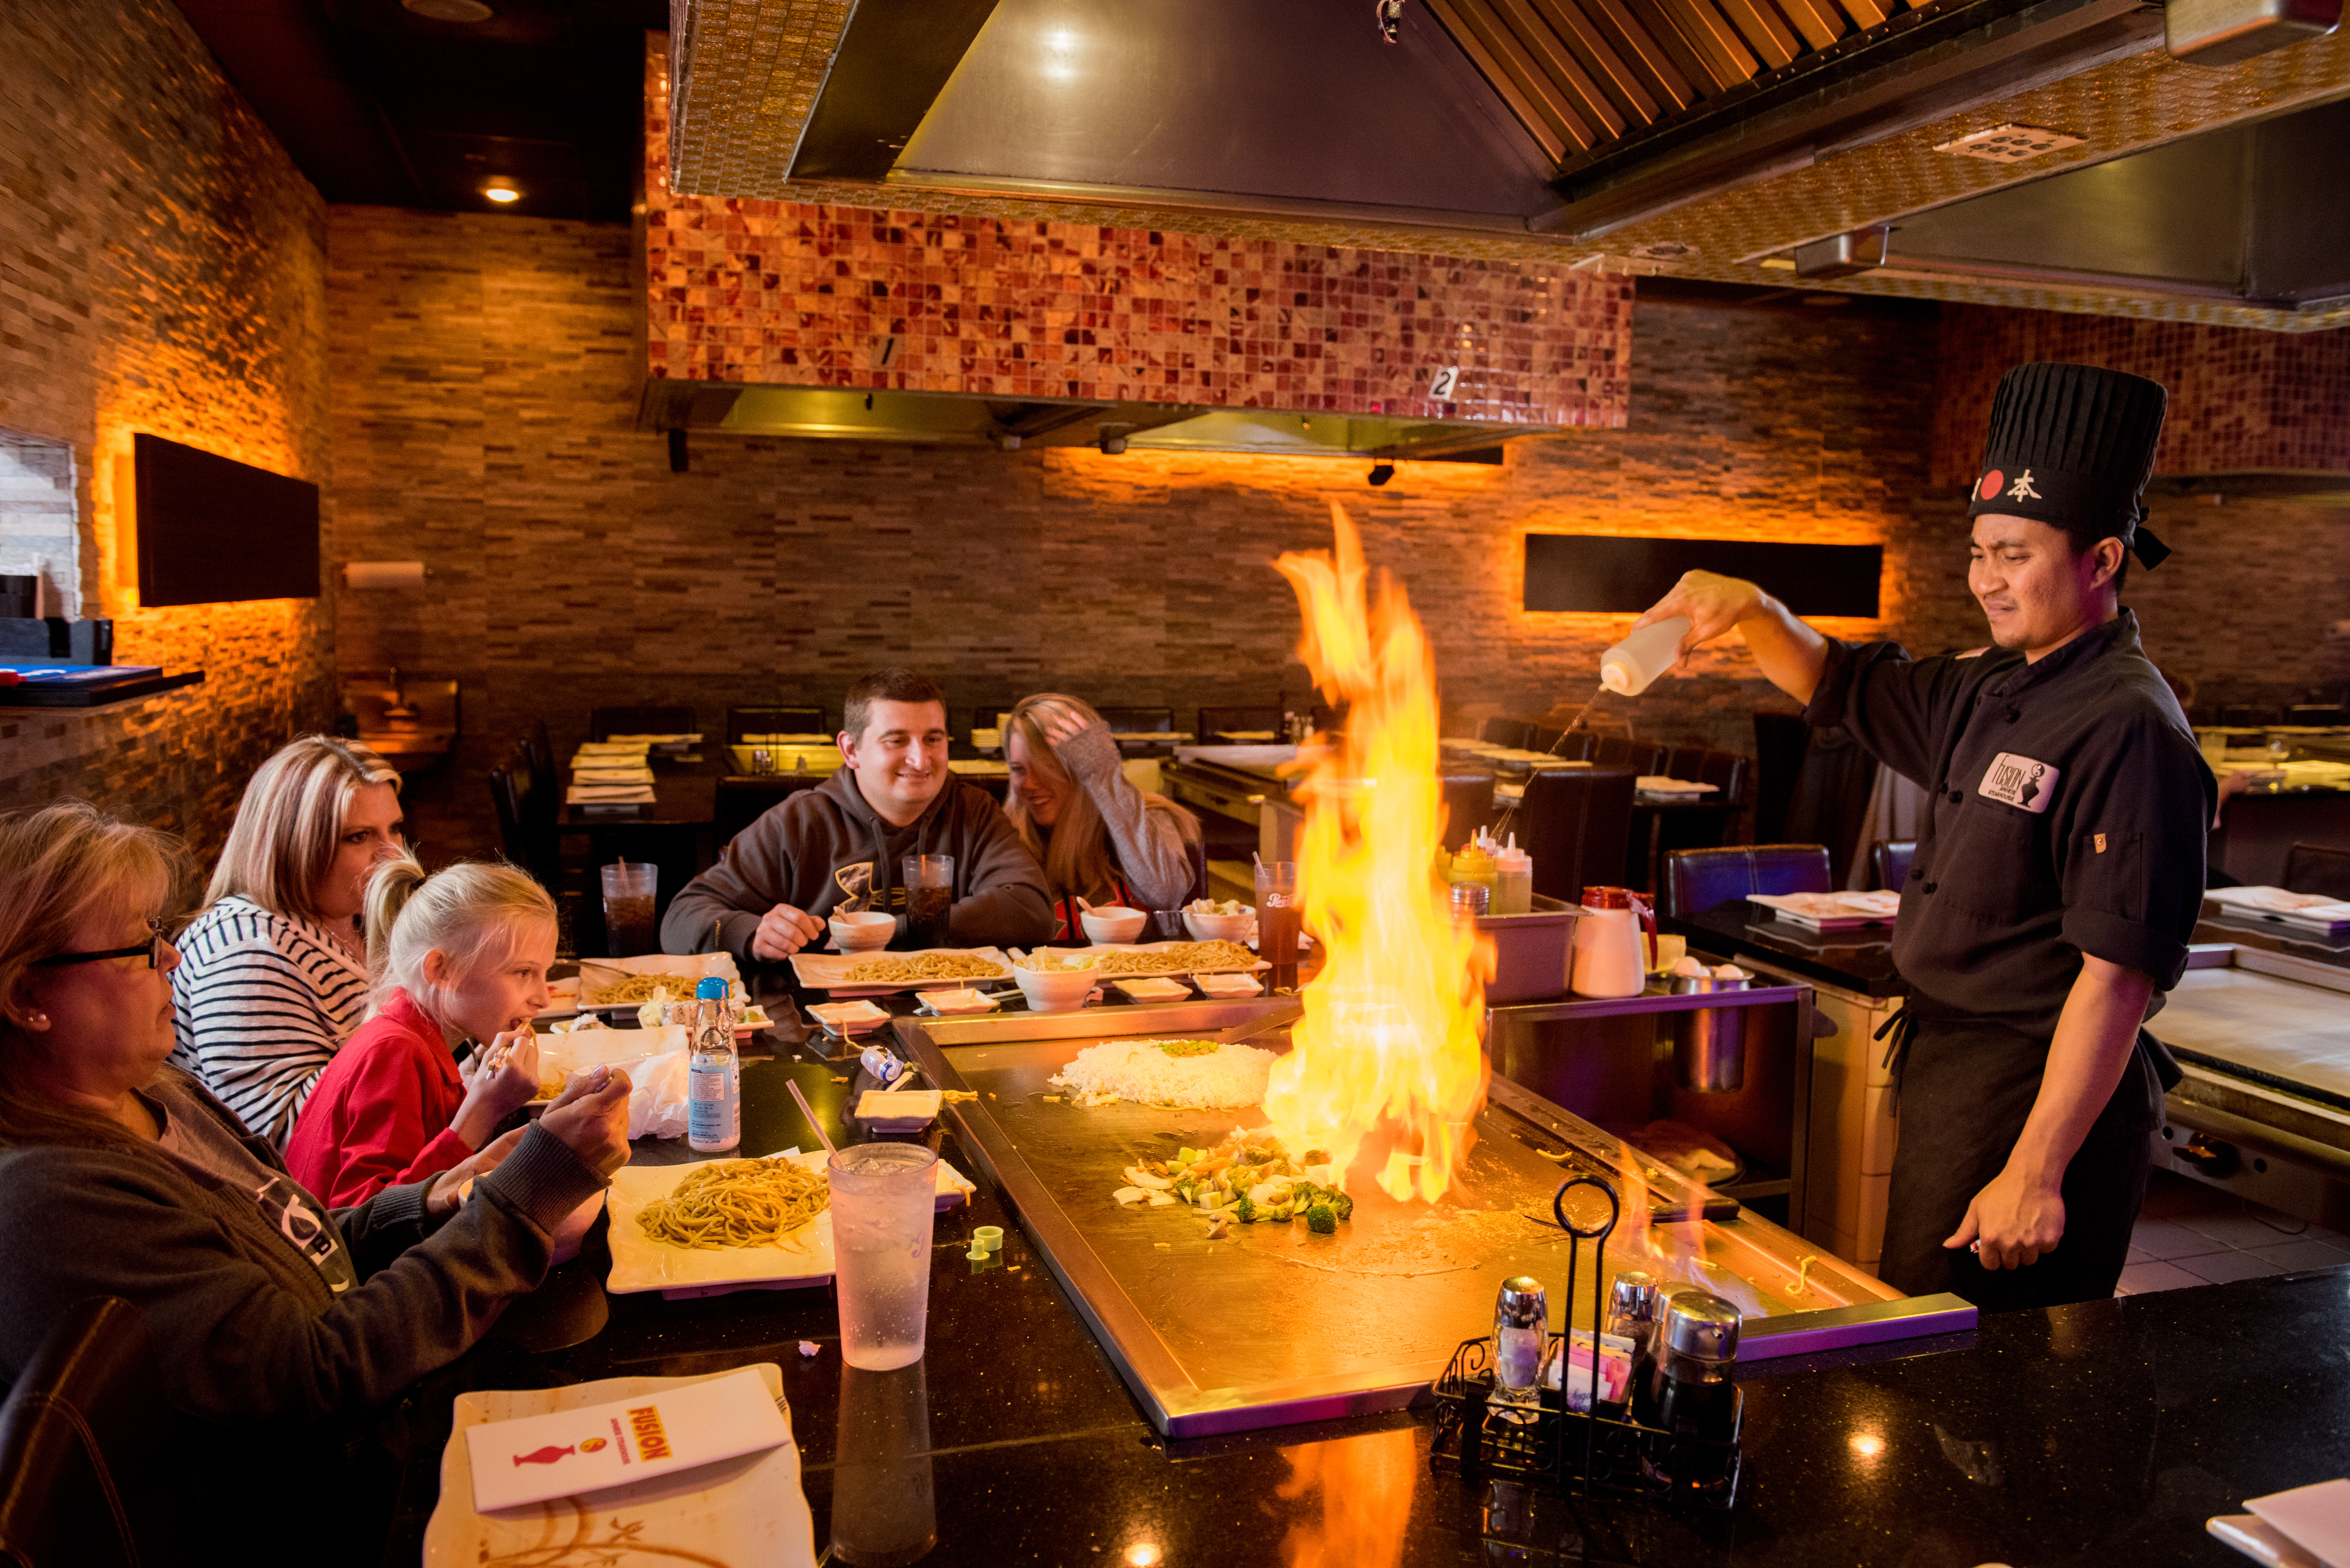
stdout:
[(489, 0), (479, 24), (400, 0), (179, 0), (329, 202), (627, 221), (644, 35), (665, 0)]

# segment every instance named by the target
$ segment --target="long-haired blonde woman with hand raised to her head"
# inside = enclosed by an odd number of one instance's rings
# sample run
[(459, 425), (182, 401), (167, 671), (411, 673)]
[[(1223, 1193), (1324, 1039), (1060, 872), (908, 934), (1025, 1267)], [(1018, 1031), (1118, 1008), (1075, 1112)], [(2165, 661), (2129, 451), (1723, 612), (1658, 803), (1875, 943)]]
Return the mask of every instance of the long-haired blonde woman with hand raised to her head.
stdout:
[(1058, 691), (1020, 698), (1003, 722), (1003, 811), (1043, 865), (1053, 936), (1083, 931), (1079, 898), (1173, 910), (1206, 891), (1198, 818), (1135, 788), (1090, 703)]

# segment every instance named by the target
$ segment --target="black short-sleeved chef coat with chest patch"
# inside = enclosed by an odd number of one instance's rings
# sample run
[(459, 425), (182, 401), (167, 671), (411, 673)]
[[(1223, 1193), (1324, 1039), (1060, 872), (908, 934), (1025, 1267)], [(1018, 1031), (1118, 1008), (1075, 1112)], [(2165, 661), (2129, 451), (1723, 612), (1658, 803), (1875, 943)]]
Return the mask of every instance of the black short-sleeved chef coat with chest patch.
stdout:
[(1831, 639), (1805, 719), (1929, 790), (1894, 964), (1934, 1011), (2047, 1041), (2084, 952), (2178, 985), (2216, 788), (2131, 611), (2040, 663)]

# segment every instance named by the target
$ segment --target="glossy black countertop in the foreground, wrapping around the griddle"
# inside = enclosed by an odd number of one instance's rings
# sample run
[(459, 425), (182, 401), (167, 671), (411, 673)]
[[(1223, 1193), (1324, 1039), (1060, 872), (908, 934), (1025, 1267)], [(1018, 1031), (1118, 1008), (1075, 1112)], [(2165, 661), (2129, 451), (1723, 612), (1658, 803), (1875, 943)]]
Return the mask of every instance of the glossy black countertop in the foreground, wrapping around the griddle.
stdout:
[[(830, 1117), (853, 1088), (832, 1081), (844, 1072), (747, 1063), (745, 1147), (806, 1135), (783, 1074)], [(942, 1154), (978, 1175), (952, 1138)], [(1006, 1227), (994, 1262), (961, 1255), (975, 1225)], [(841, 1366), (827, 1288), (606, 1298), (604, 1267), (592, 1234), (407, 1403), (385, 1563), (418, 1561), (456, 1392), (750, 1361), (783, 1366), (818, 1547), (841, 1505), (867, 1521), (914, 1514), (919, 1535), (933, 1497), (926, 1563), (2221, 1568), (2242, 1559), (2202, 1533), (2207, 1516), (2336, 1476), (2350, 1446), (2350, 1269), (1986, 1316), (1972, 1335), (1758, 1366), (1744, 1378), (1737, 1512), (1586, 1505), (1577, 1521), (1553, 1497), (1434, 1474), (1426, 1413), (1161, 1439), (985, 1185), (938, 1218), (928, 1354), (900, 1373)], [(818, 1354), (804, 1359), (801, 1340)]]

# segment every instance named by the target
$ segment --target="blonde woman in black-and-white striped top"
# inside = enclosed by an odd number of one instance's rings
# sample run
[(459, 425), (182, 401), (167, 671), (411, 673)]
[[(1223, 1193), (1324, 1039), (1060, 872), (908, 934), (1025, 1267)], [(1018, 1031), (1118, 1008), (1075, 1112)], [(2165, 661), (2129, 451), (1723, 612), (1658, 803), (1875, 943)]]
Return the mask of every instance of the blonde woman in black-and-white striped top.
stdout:
[(204, 907), (179, 936), (172, 1060), (280, 1150), (367, 1016), (367, 879), (400, 837), (400, 773), (357, 741), (303, 736), (261, 764)]

